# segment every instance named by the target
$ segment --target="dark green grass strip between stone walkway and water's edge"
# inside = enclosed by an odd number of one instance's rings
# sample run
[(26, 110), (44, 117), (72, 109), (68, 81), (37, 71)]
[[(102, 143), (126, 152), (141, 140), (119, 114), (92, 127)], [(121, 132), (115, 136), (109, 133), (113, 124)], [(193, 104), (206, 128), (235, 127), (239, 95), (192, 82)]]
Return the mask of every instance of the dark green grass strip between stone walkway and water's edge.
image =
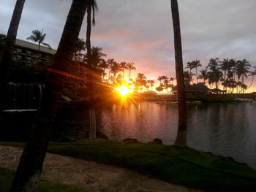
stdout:
[[(23, 143), (0, 142), (23, 147)], [(203, 191), (256, 191), (256, 172), (246, 164), (189, 147), (105, 139), (53, 143), (48, 152), (132, 169)]]

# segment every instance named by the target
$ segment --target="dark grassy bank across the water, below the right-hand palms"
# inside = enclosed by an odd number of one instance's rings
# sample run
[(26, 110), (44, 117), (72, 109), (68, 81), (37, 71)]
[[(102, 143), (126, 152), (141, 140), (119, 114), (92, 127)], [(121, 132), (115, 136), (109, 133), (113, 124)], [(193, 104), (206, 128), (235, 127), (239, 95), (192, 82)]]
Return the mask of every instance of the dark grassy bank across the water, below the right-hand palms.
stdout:
[(187, 101), (203, 101), (203, 102), (232, 102), (235, 101), (233, 96), (203, 96), (203, 95), (188, 95)]

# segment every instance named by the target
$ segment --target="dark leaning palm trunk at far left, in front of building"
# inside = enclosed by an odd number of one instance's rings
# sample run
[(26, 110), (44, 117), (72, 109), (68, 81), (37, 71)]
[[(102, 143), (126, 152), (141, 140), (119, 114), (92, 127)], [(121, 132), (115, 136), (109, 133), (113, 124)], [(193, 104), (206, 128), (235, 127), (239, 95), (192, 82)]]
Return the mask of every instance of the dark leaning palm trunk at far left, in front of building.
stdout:
[(4, 109), (5, 99), (7, 96), (7, 85), (9, 82), (9, 67), (12, 64), (12, 54), (17, 37), (18, 26), (23, 11), (25, 0), (17, 0), (12, 13), (12, 20), (4, 42), (4, 52), (0, 60), (0, 120), (1, 111)]

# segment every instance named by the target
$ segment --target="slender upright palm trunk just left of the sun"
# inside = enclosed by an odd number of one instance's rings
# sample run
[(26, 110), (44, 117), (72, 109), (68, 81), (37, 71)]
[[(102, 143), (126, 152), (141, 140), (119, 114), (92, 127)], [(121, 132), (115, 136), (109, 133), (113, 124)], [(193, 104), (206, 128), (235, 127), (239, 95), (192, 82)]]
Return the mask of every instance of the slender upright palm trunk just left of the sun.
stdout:
[[(86, 47), (89, 70), (92, 70), (91, 64), (91, 4), (87, 7), (87, 31), (86, 31)], [(89, 74), (89, 139), (96, 139), (96, 117), (94, 107), (94, 77)]]

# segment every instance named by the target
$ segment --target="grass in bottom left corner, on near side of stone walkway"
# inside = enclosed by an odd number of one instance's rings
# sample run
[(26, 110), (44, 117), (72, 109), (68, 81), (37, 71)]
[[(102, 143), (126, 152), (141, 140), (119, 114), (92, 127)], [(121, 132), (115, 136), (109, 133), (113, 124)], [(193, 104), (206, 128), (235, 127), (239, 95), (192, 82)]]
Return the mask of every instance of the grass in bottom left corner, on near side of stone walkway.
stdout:
[[(10, 169), (4, 169), (0, 167), (0, 191), (8, 192), (12, 185), (12, 179), (14, 172)], [(53, 183), (46, 180), (39, 181), (39, 187), (37, 192), (86, 192), (79, 188), (75, 188), (72, 185), (62, 185), (59, 183)]]

